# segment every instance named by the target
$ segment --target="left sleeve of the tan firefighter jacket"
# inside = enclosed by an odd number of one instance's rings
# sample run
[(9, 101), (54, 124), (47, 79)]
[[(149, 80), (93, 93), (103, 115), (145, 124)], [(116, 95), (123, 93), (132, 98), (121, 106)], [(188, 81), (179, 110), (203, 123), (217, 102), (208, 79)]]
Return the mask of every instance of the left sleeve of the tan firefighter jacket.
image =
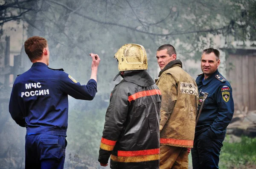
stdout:
[(162, 93), (160, 131), (163, 129), (177, 101), (177, 86), (171, 74), (160, 77), (157, 85)]

